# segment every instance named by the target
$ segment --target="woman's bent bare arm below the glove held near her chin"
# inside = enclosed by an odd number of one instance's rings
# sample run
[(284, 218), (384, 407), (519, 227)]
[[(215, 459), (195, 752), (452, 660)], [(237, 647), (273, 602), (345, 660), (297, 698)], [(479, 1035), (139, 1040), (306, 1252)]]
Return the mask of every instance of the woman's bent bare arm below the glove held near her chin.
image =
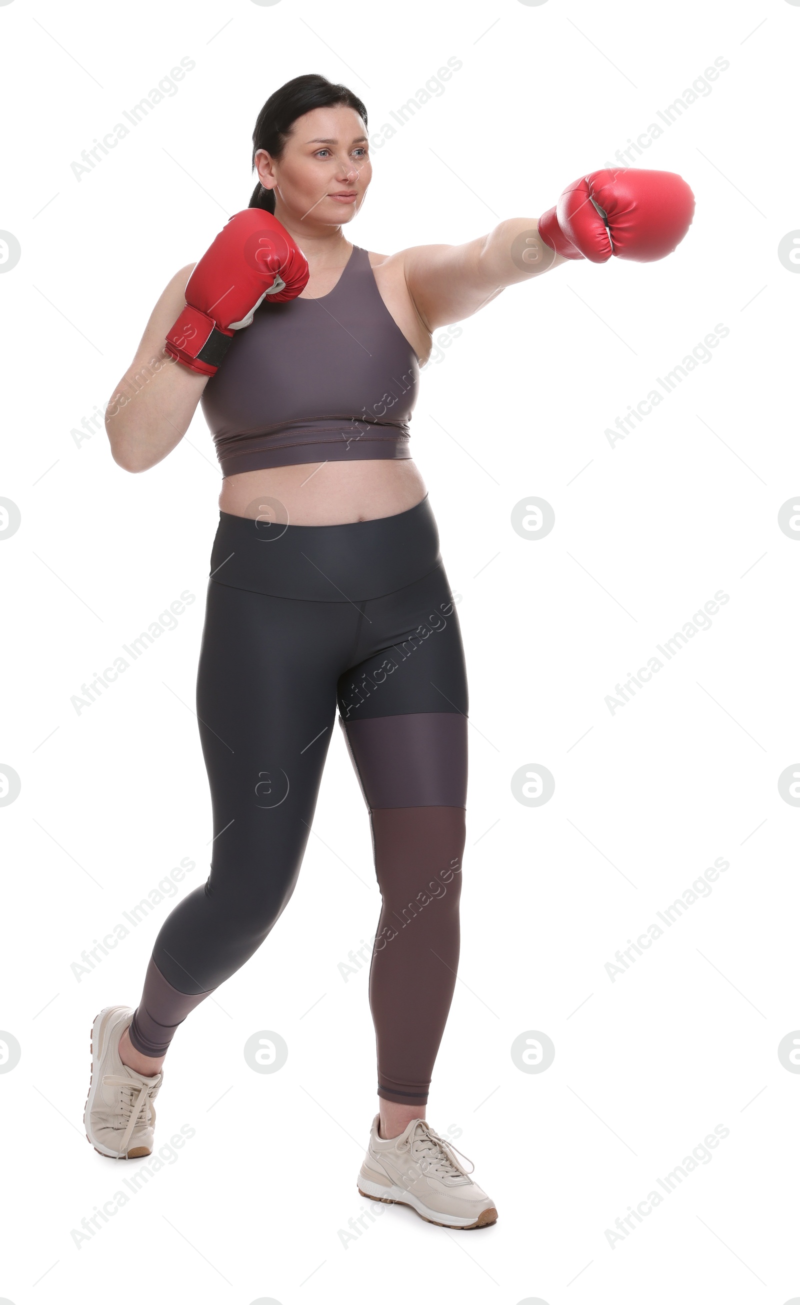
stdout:
[(146, 471), (180, 444), (209, 380), (164, 350), (167, 331), (183, 312), (193, 266), (181, 268), (163, 291), (106, 408), (111, 454), (125, 471)]

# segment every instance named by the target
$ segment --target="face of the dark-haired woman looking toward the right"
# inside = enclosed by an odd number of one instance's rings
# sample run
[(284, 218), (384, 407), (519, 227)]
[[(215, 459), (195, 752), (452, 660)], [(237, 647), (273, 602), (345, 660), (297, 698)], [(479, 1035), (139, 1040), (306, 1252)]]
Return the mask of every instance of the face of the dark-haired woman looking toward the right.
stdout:
[(283, 154), (257, 150), (261, 185), (275, 191), (275, 217), (304, 231), (351, 222), (372, 180), (363, 120), (342, 104), (315, 108), (292, 124)]

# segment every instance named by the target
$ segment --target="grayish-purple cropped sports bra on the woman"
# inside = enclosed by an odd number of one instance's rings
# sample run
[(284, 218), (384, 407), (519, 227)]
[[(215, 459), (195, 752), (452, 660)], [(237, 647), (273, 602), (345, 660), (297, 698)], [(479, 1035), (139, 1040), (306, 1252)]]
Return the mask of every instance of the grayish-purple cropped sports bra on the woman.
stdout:
[(352, 247), (321, 299), (264, 303), (202, 393), (223, 476), (295, 462), (410, 458), (419, 359)]

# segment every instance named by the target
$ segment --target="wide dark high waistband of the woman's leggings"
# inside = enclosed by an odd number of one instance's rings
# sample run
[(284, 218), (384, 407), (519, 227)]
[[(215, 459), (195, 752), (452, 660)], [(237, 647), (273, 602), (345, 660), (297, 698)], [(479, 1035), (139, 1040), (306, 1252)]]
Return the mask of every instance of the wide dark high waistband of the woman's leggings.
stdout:
[[(407, 512), (342, 526), (291, 526), (219, 513), (210, 579), (274, 598), (358, 603), (422, 579), (441, 564), (428, 495)], [(278, 505), (279, 506), (279, 505)]]

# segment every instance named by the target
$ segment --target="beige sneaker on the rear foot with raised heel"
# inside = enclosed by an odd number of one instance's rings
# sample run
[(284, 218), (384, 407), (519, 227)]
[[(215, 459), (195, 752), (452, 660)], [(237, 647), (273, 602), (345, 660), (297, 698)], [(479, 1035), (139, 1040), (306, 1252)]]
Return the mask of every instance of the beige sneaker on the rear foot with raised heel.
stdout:
[(153, 1101), (163, 1079), (163, 1071), (146, 1078), (123, 1065), (119, 1040), (132, 1019), (132, 1007), (106, 1006), (91, 1026), (91, 1078), (84, 1126), (94, 1150), (115, 1160), (151, 1154)]

